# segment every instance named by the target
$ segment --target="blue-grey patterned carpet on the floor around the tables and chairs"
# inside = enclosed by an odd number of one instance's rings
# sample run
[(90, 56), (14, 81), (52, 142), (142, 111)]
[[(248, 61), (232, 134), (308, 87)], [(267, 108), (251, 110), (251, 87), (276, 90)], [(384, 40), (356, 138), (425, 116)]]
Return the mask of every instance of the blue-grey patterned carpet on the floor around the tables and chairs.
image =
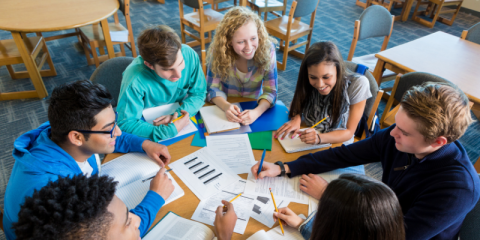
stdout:
[[(289, 9), (292, 0), (288, 2), (289, 6), (287, 9)], [(224, 5), (227, 6), (229, 3), (223, 3), (222, 6)], [(188, 11), (190, 10), (187, 9)], [(354, 21), (360, 16), (362, 11), (361, 7), (355, 5), (355, 0), (320, 0), (312, 42), (321, 40), (333, 41), (339, 47), (343, 57), (346, 58), (352, 41)], [(178, 1), (167, 0), (165, 4), (159, 4), (152, 0), (147, 2), (133, 0), (131, 4), (131, 19), (135, 37), (138, 36), (142, 29), (152, 24), (166, 24), (180, 33), (178, 13)], [(398, 15), (400, 14), (400, 9), (395, 9), (392, 13)], [(274, 16), (269, 14), (269, 19), (273, 18)], [(120, 19), (123, 21), (123, 16), (120, 16)], [(309, 19), (303, 19), (303, 21), (307, 23)], [(411, 20), (395, 22), (388, 47), (391, 48), (436, 31), (444, 31), (460, 36), (464, 29), (468, 29), (477, 22), (480, 22), (479, 17), (463, 12), (458, 14), (455, 23), (451, 27), (437, 22), (435, 27), (430, 29)], [(44, 35), (56, 34), (59, 34), (59, 32), (45, 33)], [(0, 31), (0, 39), (9, 38), (12, 38), (9, 32)], [(359, 42), (355, 56), (379, 51), (382, 41), (383, 39), (369, 39)], [(77, 44), (75, 37), (50, 41), (47, 44), (58, 72), (58, 75), (55, 77), (43, 78), (49, 93), (51, 93), (53, 88), (63, 83), (88, 79), (95, 70), (95, 66), (87, 66), (83, 49)], [(200, 47), (196, 47), (195, 50), (199, 52)], [(127, 56), (129, 54), (131, 53), (127, 52)], [(278, 51), (277, 58), (280, 59), (281, 57), (282, 52)], [(286, 104), (290, 104), (293, 97), (300, 63), (301, 59), (289, 56), (287, 70), (279, 71), (279, 99)], [(16, 67), (17, 70), (22, 68), (24, 67)], [(7, 69), (0, 67), (1, 92), (33, 89), (29, 79), (12, 80), (8, 75)], [(383, 110), (384, 105), (385, 102), (381, 105), (380, 111)], [(14, 163), (12, 157), (13, 142), (21, 134), (47, 121), (47, 107), (46, 99), (0, 102), (0, 149), (3, 149), (0, 151), (0, 168), (2, 170), (0, 171), (0, 205), (2, 207), (5, 188)], [(467, 130), (465, 136), (461, 138), (461, 142), (467, 149), (470, 158), (474, 160), (480, 155), (478, 136), (480, 136), (480, 123), (475, 122)], [(367, 167), (367, 173), (379, 178), (381, 177), (381, 168), (378, 164), (370, 165)]]

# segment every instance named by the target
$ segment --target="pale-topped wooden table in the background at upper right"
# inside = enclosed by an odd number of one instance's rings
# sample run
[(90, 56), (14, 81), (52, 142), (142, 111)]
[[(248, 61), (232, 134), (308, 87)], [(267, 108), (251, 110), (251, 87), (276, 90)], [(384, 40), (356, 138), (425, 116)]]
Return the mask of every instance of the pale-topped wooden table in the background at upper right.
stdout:
[(373, 76), (380, 86), (383, 69), (396, 73), (427, 72), (443, 77), (480, 103), (480, 45), (436, 32), (375, 54)]

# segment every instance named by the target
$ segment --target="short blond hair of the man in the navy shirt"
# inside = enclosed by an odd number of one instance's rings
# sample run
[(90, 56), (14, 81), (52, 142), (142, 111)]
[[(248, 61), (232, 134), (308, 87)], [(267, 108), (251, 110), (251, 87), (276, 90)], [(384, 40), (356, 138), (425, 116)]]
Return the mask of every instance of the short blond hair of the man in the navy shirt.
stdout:
[(455, 85), (426, 82), (409, 89), (400, 102), (407, 115), (418, 123), (425, 141), (440, 136), (447, 143), (459, 139), (473, 122), (468, 98)]

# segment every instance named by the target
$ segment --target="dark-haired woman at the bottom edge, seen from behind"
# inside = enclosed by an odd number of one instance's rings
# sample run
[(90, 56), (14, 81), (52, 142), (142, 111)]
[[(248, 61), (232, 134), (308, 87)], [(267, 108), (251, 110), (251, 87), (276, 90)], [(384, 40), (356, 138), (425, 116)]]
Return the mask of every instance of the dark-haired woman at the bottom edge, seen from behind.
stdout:
[(274, 213), (305, 239), (404, 240), (402, 208), (384, 183), (365, 175), (342, 174), (328, 184), (318, 210), (303, 220), (289, 208)]

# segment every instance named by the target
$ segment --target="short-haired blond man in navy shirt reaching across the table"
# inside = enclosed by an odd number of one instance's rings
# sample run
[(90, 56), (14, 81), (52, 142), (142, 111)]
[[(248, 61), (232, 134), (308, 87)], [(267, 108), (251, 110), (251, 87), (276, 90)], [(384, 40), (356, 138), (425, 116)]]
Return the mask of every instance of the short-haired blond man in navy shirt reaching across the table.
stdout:
[[(406, 239), (457, 239), (480, 197), (478, 175), (457, 141), (472, 122), (467, 97), (450, 84), (414, 87), (405, 93), (395, 122), (366, 140), (286, 163), (284, 172), (281, 162), (264, 163), (258, 177), (304, 174), (300, 189), (319, 199), (328, 183), (314, 174), (381, 162), (382, 181), (402, 207)], [(252, 167), (255, 177), (257, 169)]]

